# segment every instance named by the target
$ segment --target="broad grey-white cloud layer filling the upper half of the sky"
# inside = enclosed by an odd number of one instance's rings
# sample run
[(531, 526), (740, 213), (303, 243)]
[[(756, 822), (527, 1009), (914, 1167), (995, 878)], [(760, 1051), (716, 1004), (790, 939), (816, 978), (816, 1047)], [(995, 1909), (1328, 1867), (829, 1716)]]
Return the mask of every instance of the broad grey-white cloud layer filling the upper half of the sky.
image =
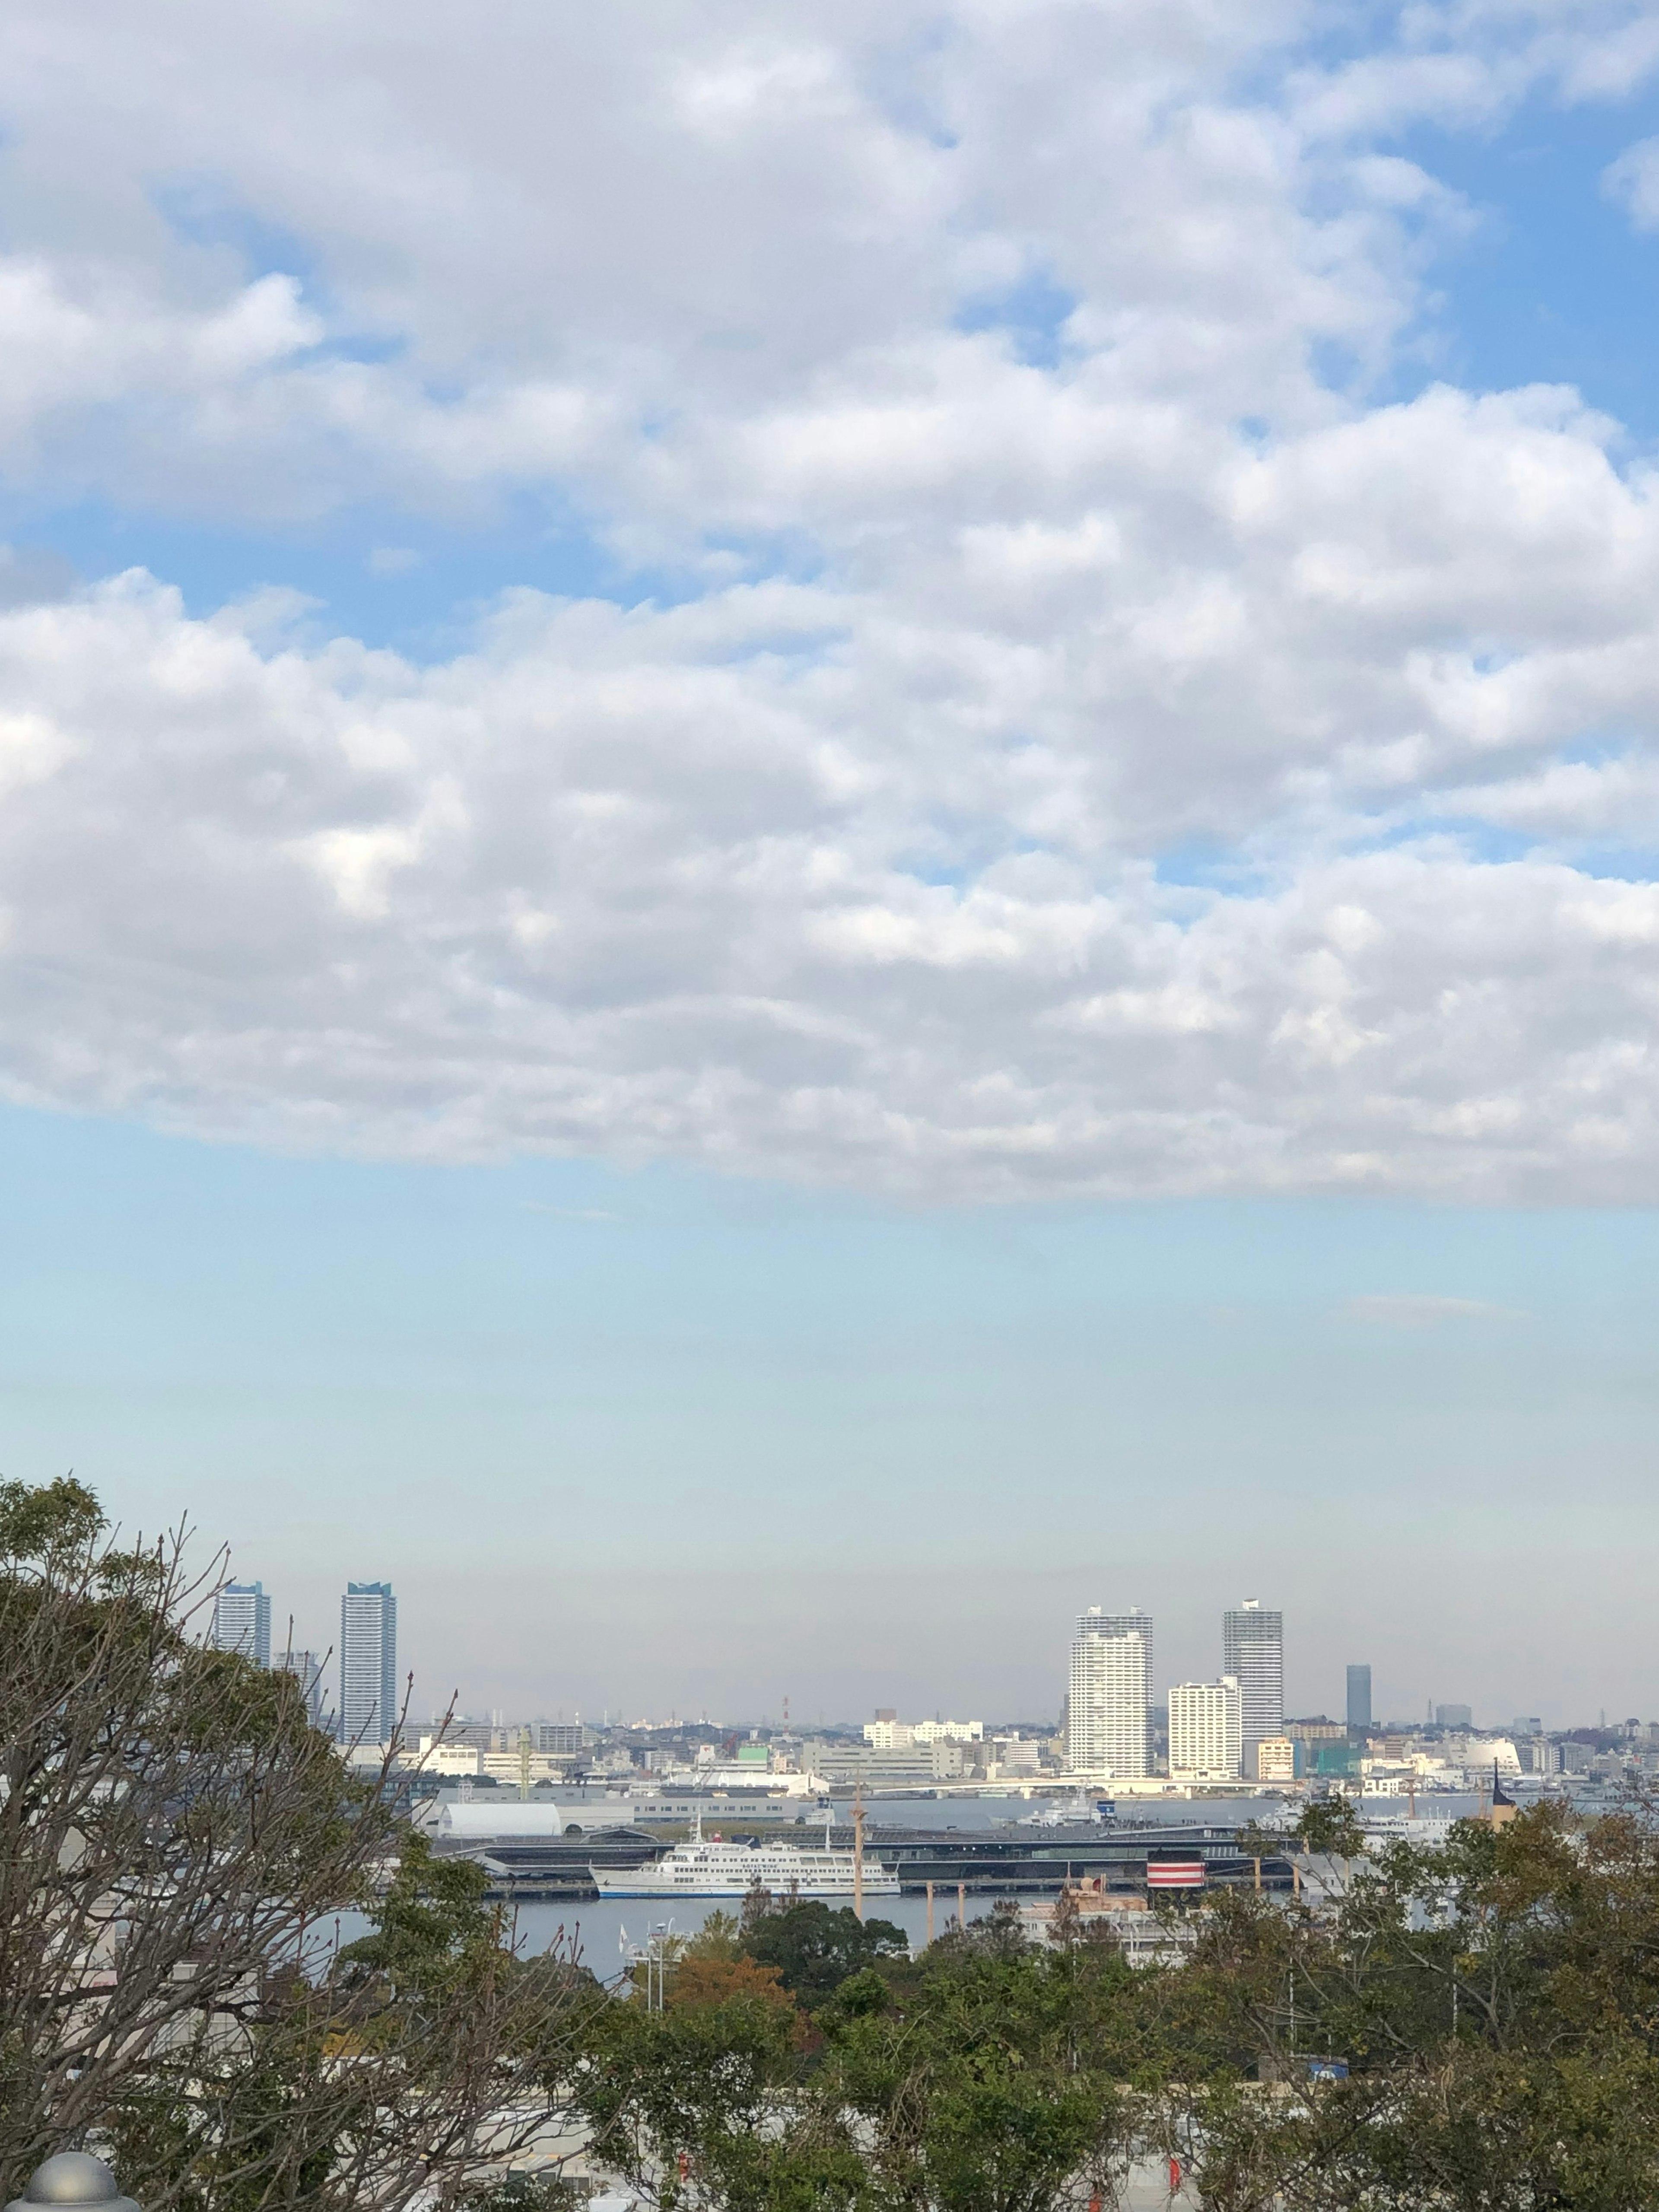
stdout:
[(1376, 398), (1469, 221), (1389, 133), (1630, 88), (1639, 9), (1318, 66), (1199, 0), (376, 24), (13, 18), (7, 480), (540, 502), (672, 588), (509, 584), (427, 664), (0, 593), (9, 1095), (945, 1199), (1659, 1194), (1652, 478), (1573, 392)]

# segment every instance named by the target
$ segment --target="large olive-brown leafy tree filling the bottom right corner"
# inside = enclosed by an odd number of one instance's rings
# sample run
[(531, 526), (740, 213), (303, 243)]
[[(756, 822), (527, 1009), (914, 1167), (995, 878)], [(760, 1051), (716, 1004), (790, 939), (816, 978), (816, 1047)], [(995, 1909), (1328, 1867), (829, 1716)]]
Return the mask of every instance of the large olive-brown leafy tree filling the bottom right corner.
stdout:
[[(1186, 1984), (1186, 1986), (1183, 1986)], [(1212, 1918), (1164, 1991), (1208, 2201), (1285, 2212), (1624, 2212), (1659, 2201), (1659, 1832), (1559, 1805), (1356, 1860), (1327, 1907)], [(1349, 2077), (1263, 2099), (1294, 2051)]]

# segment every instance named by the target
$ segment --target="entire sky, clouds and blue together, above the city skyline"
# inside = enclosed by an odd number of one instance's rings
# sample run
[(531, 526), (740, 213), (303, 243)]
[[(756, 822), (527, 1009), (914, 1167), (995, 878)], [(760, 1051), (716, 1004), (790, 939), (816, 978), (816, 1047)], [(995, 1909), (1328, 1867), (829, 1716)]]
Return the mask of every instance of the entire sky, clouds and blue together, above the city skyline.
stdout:
[(0, 55), (9, 1473), (473, 1708), (1659, 1710), (1648, 11)]

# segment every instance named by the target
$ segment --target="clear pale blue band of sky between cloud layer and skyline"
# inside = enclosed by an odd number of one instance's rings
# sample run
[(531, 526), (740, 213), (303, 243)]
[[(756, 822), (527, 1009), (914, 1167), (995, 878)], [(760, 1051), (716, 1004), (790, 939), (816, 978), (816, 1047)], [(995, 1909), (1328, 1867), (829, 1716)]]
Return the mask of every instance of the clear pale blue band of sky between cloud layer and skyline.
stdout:
[(1283, 1601), (1307, 1710), (1347, 1657), (1400, 1714), (1641, 1708), (1637, 1639), (1540, 1630), (1641, 1604), (1650, 1212), (891, 1210), (29, 1113), (4, 1159), (11, 1471), (188, 1511), (305, 1644), (389, 1573), (422, 1694), (1042, 1714), (1106, 1590), (1175, 1679)]

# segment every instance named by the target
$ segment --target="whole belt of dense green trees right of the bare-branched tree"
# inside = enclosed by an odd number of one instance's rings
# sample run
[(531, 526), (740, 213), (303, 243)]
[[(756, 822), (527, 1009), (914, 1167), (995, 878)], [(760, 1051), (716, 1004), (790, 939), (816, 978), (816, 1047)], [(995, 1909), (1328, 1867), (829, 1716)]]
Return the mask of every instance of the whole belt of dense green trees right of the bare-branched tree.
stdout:
[[(1071, 1911), (1057, 1942), (1000, 1909), (916, 1962), (823, 1905), (717, 1916), (666, 2011), (604, 2008), (582, 2106), (653, 2197), (732, 2212), (1110, 2205), (1170, 2154), (1225, 2212), (1659, 2203), (1646, 1805), (1367, 1858), (1327, 1803), (1290, 1843), (1298, 1900), (1219, 1891), (1135, 1971)], [(1345, 2079), (1312, 2077), (1329, 2057)]]

